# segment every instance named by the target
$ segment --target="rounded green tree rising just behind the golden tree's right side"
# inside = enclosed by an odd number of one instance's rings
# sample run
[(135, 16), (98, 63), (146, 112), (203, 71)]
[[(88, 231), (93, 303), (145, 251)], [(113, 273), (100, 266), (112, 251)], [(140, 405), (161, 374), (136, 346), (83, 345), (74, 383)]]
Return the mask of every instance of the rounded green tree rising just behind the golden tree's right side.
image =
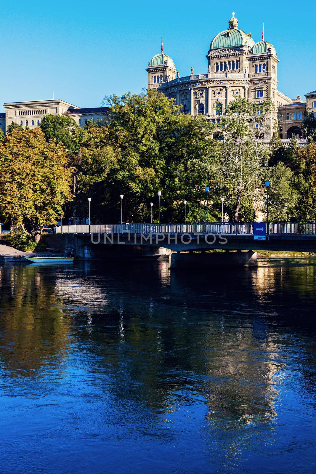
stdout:
[(78, 154), (84, 131), (72, 117), (47, 114), (42, 118), (39, 127), (47, 141), (55, 139), (57, 144), (63, 144), (73, 155)]

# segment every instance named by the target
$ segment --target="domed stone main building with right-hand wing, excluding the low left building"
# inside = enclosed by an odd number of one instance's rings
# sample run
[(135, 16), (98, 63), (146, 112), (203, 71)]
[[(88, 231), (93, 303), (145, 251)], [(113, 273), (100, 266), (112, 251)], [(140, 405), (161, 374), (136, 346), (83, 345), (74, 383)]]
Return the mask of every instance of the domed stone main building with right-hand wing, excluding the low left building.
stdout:
[[(312, 109), (312, 104), (316, 106), (316, 91), (311, 93), (314, 96), (307, 94), (307, 97), (310, 97), (307, 104), (298, 104), (297, 100), (292, 100), (278, 91), (279, 59), (275, 48), (263, 39), (263, 34), (262, 41), (255, 43), (250, 33), (246, 34), (238, 28), (235, 16), (229, 20), (228, 29), (213, 38), (206, 57), (206, 73), (194, 74), (192, 67), (190, 76), (180, 77), (172, 59), (163, 54), (162, 48), (161, 54), (155, 55), (146, 68), (148, 89), (162, 91), (168, 97), (174, 98), (176, 103), (182, 106), (184, 113), (192, 116), (206, 115), (213, 123), (220, 121), (220, 115), (225, 112), (226, 105), (235, 97), (241, 96), (255, 103), (262, 103), (264, 99), (270, 98), (275, 106), (275, 113), (268, 119), (265, 130), (264, 138), (269, 141), (273, 124), (280, 117), (281, 138), (286, 138), (291, 133), (288, 132), (291, 127), (298, 124), (301, 126), (299, 119), (295, 120), (295, 123), (288, 123), (287, 127), (284, 126), (284, 108), (291, 108), (293, 105), (295, 117), (298, 112), (298, 118), (304, 118), (306, 107)], [(292, 130), (298, 131), (296, 128)], [(301, 133), (298, 135), (301, 136)]]

